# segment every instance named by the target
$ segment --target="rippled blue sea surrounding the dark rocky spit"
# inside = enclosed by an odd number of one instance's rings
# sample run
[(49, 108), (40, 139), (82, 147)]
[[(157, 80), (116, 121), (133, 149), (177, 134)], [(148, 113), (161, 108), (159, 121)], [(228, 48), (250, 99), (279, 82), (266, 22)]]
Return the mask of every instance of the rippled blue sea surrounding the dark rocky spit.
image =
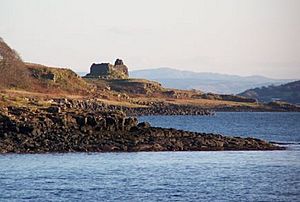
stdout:
[(0, 201), (300, 201), (300, 113), (140, 120), (288, 150), (0, 155)]

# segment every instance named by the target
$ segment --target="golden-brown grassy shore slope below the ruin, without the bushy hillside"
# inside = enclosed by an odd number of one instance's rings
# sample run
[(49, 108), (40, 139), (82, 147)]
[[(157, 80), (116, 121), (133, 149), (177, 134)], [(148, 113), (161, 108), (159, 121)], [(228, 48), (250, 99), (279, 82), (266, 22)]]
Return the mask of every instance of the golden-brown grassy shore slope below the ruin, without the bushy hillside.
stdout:
[[(31, 65), (32, 67), (32, 65)], [(140, 108), (152, 105), (195, 106), (216, 111), (299, 111), (290, 105), (271, 105), (253, 101), (239, 100), (232, 96), (231, 100), (219, 95), (204, 94), (199, 91), (165, 89), (157, 83), (147, 80), (83, 80), (74, 76), (71, 70), (35, 66), (35, 70), (55, 72), (61, 78), (54, 80), (38, 78), (39, 88), (20, 89), (5, 88), (0, 91), (0, 106), (43, 106), (55, 98), (74, 100), (91, 100), (107, 105)], [(65, 76), (65, 77), (64, 77)], [(38, 90), (36, 90), (38, 89)], [(236, 98), (236, 100), (235, 100)]]

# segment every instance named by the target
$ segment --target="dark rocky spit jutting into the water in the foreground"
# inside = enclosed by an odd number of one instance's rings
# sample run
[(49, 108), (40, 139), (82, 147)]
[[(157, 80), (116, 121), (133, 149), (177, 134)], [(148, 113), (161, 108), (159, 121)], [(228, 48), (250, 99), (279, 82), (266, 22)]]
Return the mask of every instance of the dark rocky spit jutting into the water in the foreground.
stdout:
[(122, 112), (7, 107), (0, 110), (0, 153), (282, 149), (254, 138), (151, 127)]

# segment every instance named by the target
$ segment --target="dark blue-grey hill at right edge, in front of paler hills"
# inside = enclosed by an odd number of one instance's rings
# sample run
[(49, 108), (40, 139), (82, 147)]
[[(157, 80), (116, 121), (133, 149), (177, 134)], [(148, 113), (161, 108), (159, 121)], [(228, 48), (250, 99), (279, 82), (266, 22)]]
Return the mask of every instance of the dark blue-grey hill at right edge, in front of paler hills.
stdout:
[(246, 90), (239, 95), (255, 98), (262, 102), (280, 100), (293, 104), (300, 104), (300, 80), (280, 86), (254, 88)]

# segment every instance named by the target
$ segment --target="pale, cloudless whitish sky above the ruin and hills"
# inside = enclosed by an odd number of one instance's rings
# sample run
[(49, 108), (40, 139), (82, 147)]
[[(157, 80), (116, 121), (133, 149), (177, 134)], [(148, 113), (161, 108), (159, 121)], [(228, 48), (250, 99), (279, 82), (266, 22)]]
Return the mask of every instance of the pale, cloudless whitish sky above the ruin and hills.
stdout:
[(23, 60), (300, 78), (299, 0), (0, 0)]

